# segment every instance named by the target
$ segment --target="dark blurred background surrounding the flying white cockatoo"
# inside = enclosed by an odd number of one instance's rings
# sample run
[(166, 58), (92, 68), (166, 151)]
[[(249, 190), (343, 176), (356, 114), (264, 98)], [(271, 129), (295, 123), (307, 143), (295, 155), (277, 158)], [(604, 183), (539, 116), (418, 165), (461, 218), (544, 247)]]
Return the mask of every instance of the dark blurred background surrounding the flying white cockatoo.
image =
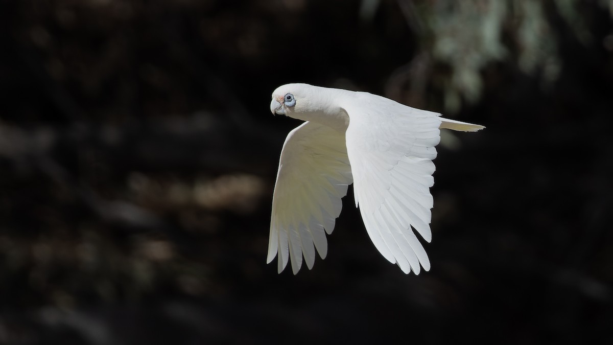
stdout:
[[(265, 264), (287, 82), (487, 126), (443, 134), (430, 272), (351, 188)], [(612, 115), (611, 0), (1, 1), (0, 343), (611, 343)]]

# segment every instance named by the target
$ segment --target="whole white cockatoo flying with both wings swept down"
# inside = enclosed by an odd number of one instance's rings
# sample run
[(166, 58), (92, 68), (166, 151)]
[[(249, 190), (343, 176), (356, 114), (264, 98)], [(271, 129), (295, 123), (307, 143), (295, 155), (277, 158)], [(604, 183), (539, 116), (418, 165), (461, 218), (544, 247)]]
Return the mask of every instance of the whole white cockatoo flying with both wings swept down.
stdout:
[(270, 111), (304, 120), (287, 134), (272, 201), (267, 262), (296, 274), (302, 257), (313, 268), (354, 185), (368, 236), (404, 273), (428, 271), (430, 260), (413, 227), (430, 242), (432, 160), (440, 128), (481, 125), (443, 118), (367, 92), (292, 83), (272, 93)]

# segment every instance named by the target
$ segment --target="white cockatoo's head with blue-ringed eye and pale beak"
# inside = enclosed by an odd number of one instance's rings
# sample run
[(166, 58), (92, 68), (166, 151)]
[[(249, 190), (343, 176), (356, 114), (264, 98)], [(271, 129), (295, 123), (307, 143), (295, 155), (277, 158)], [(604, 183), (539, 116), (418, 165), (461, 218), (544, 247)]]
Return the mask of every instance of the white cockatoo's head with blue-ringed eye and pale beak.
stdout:
[(311, 111), (310, 95), (313, 87), (308, 84), (293, 83), (276, 88), (272, 93), (270, 111), (273, 115), (298, 115)]

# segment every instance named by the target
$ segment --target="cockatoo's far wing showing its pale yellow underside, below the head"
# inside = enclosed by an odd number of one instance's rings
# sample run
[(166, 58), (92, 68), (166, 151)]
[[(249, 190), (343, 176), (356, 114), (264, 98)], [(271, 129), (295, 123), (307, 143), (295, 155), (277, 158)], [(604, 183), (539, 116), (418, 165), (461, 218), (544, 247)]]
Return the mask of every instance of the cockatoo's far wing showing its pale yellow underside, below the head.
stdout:
[(291, 258), (296, 274), (303, 254), (313, 268), (314, 247), (325, 258), (324, 229), (332, 233), (351, 182), (345, 133), (305, 122), (287, 134), (272, 200), (267, 263), (278, 253), (279, 273)]

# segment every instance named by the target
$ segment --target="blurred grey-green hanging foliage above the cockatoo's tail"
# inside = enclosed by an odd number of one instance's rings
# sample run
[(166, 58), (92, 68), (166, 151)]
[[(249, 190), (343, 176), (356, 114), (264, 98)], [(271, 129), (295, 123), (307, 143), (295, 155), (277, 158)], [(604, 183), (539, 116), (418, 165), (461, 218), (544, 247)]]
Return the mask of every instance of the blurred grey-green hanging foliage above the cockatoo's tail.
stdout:
[[(462, 99), (476, 103), (484, 88), (483, 70), (501, 61), (511, 60), (525, 74), (538, 74), (543, 86), (550, 87), (563, 68), (560, 33), (552, 28), (552, 21), (562, 18), (581, 44), (598, 44), (588, 29), (581, 0), (398, 3), (419, 37), (420, 50), (433, 63), (449, 66), (449, 72), (435, 81), (444, 90), (446, 112), (459, 112)], [(600, 1), (600, 5), (613, 9), (612, 1)]]

